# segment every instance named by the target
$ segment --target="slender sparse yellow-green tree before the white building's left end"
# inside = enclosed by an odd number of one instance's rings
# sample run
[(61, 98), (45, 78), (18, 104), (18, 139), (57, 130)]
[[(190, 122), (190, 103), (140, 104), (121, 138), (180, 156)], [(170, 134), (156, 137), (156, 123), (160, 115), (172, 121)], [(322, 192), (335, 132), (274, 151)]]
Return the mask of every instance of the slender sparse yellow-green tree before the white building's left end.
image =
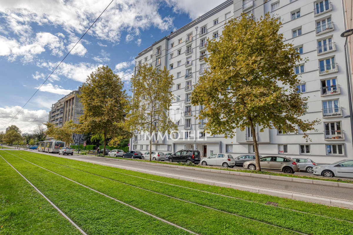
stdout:
[[(126, 123), (131, 131), (149, 133), (150, 150), (155, 132), (170, 133), (177, 129), (169, 118), (173, 84), (173, 75), (169, 75), (166, 67), (158, 71), (147, 64), (140, 66), (136, 76), (131, 78), (133, 98)], [(153, 138), (156, 139), (155, 136)]]

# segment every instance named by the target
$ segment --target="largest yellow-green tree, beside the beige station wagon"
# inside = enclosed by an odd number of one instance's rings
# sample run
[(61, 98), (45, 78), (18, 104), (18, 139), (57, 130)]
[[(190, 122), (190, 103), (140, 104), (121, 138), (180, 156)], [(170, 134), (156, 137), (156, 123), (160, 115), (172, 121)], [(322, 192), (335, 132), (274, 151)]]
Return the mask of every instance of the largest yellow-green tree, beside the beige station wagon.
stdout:
[[(192, 104), (203, 105), (199, 119), (208, 120), (206, 129), (233, 137), (246, 127), (255, 132), (259, 125), (298, 133), (315, 129), (318, 120), (302, 120), (306, 97), (297, 93), (301, 80), (294, 66), (303, 60), (278, 31), (281, 22), (269, 13), (258, 21), (243, 15), (229, 21), (218, 40), (208, 40), (210, 69), (192, 91)], [(285, 89), (283, 88), (285, 87)], [(256, 134), (252, 135), (256, 170), (261, 170)]]

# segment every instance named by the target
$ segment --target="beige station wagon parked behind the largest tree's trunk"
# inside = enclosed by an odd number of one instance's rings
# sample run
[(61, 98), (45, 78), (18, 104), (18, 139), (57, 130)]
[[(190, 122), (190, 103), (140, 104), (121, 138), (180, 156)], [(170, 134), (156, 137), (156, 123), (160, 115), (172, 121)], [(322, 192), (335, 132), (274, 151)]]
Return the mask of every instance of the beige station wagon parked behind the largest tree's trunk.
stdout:
[[(244, 162), (243, 167), (249, 170), (256, 170), (255, 160)], [(260, 158), (260, 167), (264, 170), (278, 170), (288, 174), (299, 171), (298, 164), (289, 157), (262, 157)]]

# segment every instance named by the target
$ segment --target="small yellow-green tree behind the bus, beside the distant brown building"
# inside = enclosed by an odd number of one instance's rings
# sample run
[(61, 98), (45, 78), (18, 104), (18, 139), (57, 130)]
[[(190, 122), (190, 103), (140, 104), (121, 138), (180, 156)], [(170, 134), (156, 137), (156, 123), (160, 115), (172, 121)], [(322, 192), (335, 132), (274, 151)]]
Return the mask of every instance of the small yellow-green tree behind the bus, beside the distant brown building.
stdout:
[(72, 133), (75, 131), (75, 124), (72, 120), (66, 121), (62, 127), (55, 126), (50, 122), (43, 124), (47, 126), (47, 131), (45, 133), (48, 136), (53, 137), (55, 140), (64, 141), (66, 146), (70, 146), (70, 143), (73, 143)]

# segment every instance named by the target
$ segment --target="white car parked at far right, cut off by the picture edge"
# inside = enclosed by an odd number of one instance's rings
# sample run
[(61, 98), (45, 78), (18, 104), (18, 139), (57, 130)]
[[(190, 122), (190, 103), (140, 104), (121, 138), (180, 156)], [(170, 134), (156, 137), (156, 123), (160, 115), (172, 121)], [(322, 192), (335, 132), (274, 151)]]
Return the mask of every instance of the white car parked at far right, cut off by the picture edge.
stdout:
[(341, 160), (327, 165), (317, 165), (313, 168), (313, 174), (325, 177), (353, 178), (353, 159)]

